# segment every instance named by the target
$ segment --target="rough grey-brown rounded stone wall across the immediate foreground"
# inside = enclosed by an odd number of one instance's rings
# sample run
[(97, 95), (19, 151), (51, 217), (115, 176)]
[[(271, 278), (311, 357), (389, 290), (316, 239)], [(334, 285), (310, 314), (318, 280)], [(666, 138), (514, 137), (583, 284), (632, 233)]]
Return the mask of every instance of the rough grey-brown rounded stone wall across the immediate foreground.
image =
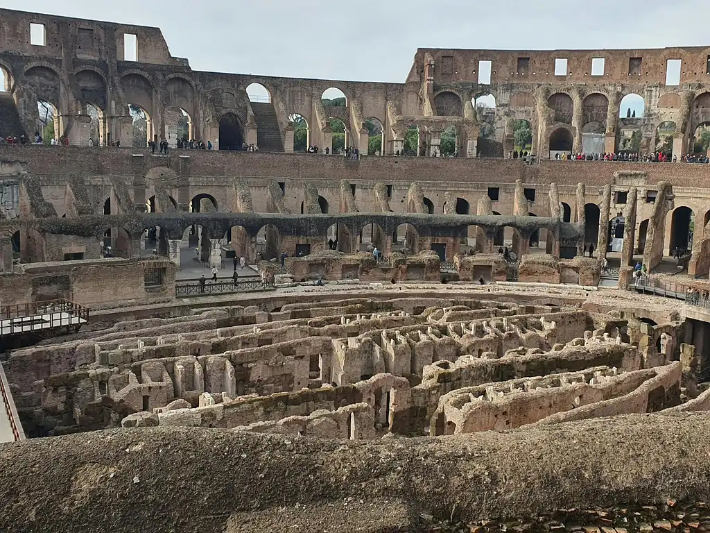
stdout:
[[(710, 525), (709, 437), (707, 414), (346, 444), (215, 429), (102, 431), (0, 446), (0, 463), (13, 465), (0, 469), (8, 495), (0, 528), (31, 532), (51, 517), (57, 533), (97, 524), (115, 533), (145, 524), (426, 532), (453, 518), (472, 531), (701, 531)], [(222, 495), (219, 512), (213, 498), (195, 497), (195, 483)], [(159, 517), (138, 500), (160, 502)], [(92, 527), (81, 526), (88, 516)]]

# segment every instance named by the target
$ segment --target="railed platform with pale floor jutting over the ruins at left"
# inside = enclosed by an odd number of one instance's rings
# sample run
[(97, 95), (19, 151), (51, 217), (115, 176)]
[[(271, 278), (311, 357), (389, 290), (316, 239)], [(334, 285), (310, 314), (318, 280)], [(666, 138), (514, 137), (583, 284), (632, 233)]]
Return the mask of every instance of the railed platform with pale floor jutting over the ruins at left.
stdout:
[(89, 320), (89, 309), (68, 300), (20, 303), (0, 308), (0, 335), (79, 327)]

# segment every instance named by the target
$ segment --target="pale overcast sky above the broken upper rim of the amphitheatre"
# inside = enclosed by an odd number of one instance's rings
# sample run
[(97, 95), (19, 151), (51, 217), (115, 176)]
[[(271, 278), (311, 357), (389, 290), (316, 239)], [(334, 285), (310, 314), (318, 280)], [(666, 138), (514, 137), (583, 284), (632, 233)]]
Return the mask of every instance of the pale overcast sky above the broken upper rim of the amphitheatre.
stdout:
[(403, 82), (417, 48), (710, 45), (708, 0), (23, 0), (24, 11), (158, 26), (195, 70)]

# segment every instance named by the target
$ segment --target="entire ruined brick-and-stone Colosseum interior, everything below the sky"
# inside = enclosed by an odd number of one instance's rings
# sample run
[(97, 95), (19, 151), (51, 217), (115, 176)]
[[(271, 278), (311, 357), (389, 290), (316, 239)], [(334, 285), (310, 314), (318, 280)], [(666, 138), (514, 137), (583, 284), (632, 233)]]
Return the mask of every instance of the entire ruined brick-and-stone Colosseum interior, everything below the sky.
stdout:
[(710, 530), (710, 48), (0, 15), (0, 529)]

